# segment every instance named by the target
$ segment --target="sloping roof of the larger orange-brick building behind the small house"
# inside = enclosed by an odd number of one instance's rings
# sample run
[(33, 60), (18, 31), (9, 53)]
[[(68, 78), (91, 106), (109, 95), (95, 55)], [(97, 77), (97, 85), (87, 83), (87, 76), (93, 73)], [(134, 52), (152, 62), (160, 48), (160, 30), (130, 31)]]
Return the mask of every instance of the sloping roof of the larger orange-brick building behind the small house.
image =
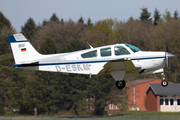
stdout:
[(143, 84), (143, 83), (150, 82), (150, 81), (154, 81), (154, 80), (160, 80), (160, 79), (152, 78), (152, 79), (140, 79), (140, 80), (129, 81), (127, 83), (127, 87), (136, 86), (136, 85)]

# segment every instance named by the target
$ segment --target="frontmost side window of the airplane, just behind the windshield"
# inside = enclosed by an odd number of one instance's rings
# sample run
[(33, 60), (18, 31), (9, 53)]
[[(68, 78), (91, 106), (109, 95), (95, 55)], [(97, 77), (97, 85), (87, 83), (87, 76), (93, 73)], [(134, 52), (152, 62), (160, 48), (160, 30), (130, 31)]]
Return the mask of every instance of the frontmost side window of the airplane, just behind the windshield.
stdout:
[(126, 50), (126, 48), (122, 47), (122, 46), (115, 46), (114, 47), (114, 53), (115, 55), (128, 55), (130, 54), (128, 50)]

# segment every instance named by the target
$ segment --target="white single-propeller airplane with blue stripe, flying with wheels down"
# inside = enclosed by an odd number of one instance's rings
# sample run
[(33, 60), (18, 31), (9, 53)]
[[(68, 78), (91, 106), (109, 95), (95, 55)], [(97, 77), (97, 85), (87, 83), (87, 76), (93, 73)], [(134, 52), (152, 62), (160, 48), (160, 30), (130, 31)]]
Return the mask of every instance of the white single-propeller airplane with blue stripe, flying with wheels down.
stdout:
[(28, 42), (22, 33), (8, 36), (15, 64), (13, 67), (90, 75), (110, 74), (116, 81), (116, 87), (123, 89), (127, 80), (138, 75), (162, 73), (161, 85), (166, 87), (164, 67), (168, 52), (141, 51), (131, 44), (113, 44), (69, 53), (42, 55)]

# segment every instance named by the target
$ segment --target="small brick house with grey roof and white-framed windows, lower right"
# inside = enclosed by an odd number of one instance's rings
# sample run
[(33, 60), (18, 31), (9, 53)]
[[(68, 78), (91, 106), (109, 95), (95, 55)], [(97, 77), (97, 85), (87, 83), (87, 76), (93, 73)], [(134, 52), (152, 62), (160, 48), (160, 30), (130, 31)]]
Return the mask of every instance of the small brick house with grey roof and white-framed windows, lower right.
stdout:
[(180, 112), (180, 84), (150, 84), (146, 95), (147, 111)]

